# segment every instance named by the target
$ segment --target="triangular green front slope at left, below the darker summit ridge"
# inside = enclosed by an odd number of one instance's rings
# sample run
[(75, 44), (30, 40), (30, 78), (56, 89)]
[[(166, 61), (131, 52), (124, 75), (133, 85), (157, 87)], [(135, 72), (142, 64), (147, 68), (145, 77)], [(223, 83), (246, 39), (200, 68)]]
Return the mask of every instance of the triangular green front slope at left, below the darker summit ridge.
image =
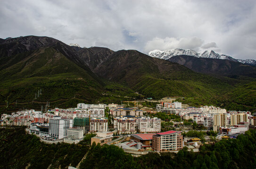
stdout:
[[(17, 54), (20, 57), (23, 54)], [(74, 107), (77, 102), (91, 102), (99, 98), (102, 85), (87, 71), (68, 60), (52, 47), (35, 50), (16, 64), (0, 71), (2, 82), (1, 102), (7, 100), (10, 107), (41, 109), (49, 100), (52, 106)], [(35, 93), (42, 91), (33, 101)], [(10, 95), (10, 96), (9, 96)], [(9, 96), (9, 97), (8, 97)], [(18, 105), (13, 105), (16, 100)], [(5, 106), (6, 107), (6, 106)], [(3, 110), (4, 106), (1, 107)]]

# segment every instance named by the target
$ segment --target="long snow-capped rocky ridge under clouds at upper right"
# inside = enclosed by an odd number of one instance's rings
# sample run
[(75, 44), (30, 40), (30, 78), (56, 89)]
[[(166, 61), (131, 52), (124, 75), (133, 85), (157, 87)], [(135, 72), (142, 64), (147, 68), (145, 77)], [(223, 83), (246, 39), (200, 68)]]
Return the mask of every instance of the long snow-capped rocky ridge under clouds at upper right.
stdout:
[(195, 57), (202, 57), (202, 58), (211, 58), (211, 59), (225, 59), (229, 61), (239, 61), (241, 63), (247, 63), (247, 64), (256, 64), (255, 60), (252, 59), (246, 59), (246, 60), (241, 60), (241, 59), (234, 59), (229, 55), (225, 54), (217, 54), (212, 50), (206, 50), (204, 53), (199, 54), (194, 50), (190, 49), (170, 49), (170, 50), (165, 50), (165, 51), (160, 51), (160, 50), (153, 50), (149, 52), (149, 56), (156, 57), (159, 59), (169, 59), (173, 56), (177, 55), (189, 55), (189, 56), (195, 56)]

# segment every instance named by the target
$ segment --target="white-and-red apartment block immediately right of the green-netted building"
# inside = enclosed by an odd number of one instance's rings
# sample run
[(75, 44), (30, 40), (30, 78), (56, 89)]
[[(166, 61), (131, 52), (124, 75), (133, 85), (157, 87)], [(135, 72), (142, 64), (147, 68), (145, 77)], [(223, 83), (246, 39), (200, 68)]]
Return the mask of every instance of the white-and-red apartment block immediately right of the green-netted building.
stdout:
[(107, 131), (107, 118), (91, 118), (90, 132)]

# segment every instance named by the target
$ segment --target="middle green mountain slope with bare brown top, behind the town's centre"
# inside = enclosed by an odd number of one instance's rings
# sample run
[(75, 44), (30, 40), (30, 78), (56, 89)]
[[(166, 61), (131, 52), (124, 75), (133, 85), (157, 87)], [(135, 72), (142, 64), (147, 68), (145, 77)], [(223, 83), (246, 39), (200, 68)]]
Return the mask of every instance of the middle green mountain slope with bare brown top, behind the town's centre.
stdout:
[(117, 51), (110, 58), (95, 69), (99, 76), (153, 98), (216, 96), (232, 88), (214, 77), (134, 50)]

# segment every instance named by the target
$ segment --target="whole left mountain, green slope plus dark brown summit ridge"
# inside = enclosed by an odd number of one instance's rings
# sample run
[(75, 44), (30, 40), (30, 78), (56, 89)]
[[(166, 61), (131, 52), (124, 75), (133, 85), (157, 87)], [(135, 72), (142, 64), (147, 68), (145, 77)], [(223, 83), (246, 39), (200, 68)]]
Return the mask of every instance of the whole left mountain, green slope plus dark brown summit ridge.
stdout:
[(56, 39), (13, 38), (1, 43), (0, 51), (2, 110), (22, 104), (41, 108), (46, 100), (55, 106), (74, 106), (74, 100), (96, 100), (104, 89), (99, 77), (79, 62), (75, 50)]

